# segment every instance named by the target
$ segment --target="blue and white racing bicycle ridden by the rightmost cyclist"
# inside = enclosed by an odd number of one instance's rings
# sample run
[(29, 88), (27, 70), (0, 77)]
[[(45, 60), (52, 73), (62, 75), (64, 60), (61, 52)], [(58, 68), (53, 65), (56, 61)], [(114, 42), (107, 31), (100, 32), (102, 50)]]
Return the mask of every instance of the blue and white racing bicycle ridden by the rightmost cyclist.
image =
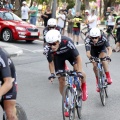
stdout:
[[(98, 88), (100, 90), (100, 99), (102, 102), (102, 105), (105, 106), (105, 99), (108, 98), (108, 85), (107, 85), (107, 79), (105, 77), (105, 72), (103, 69), (102, 61), (104, 61), (104, 58), (94, 58), (94, 61), (97, 63), (97, 75), (98, 75)], [(86, 62), (86, 65), (92, 63), (92, 62)]]

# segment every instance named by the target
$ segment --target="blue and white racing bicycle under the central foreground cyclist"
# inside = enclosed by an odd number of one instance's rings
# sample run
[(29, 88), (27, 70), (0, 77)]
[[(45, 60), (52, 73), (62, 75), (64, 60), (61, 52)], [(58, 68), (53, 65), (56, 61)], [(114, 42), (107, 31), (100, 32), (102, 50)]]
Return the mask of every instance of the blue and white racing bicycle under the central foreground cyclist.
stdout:
[[(62, 95), (62, 114), (63, 120), (75, 120), (75, 109), (77, 110), (78, 119), (81, 118), (82, 111), (82, 90), (80, 80), (74, 71), (65, 71), (60, 73), (60, 76), (66, 78), (66, 85), (64, 87)], [(65, 112), (69, 113), (69, 116), (64, 115)]]

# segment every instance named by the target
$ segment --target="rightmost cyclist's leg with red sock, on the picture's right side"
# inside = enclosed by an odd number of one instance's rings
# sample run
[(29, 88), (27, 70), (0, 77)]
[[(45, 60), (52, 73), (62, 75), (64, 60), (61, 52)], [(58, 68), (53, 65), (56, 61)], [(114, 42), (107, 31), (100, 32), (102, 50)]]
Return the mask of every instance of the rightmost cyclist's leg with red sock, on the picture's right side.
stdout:
[[(103, 50), (99, 55), (99, 58), (104, 58), (104, 57), (106, 57), (106, 50)], [(111, 79), (109, 68), (108, 68), (108, 61), (102, 61), (102, 64), (103, 64), (103, 68), (106, 74), (107, 82), (108, 84), (111, 84), (112, 79)]]

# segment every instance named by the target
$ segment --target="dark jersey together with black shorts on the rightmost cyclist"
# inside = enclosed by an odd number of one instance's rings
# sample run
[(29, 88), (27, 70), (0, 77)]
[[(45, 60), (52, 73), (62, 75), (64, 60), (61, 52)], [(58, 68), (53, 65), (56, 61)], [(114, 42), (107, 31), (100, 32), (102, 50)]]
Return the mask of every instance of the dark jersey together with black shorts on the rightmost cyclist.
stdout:
[(91, 55), (94, 57), (99, 57), (99, 54), (101, 52), (106, 52), (106, 47), (109, 47), (109, 46), (110, 46), (110, 44), (104, 35), (102, 35), (99, 38), (99, 40), (96, 44), (94, 44), (94, 42), (92, 41), (92, 39), (90, 37), (87, 37), (85, 39), (86, 51), (90, 51)]

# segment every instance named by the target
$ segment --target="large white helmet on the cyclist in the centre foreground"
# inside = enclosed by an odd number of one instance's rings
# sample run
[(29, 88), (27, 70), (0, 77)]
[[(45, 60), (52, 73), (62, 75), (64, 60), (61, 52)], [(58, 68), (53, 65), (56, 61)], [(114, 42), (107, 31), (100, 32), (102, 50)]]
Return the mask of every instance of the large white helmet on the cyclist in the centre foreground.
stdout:
[(45, 38), (47, 43), (61, 42), (61, 34), (58, 30), (49, 30)]

